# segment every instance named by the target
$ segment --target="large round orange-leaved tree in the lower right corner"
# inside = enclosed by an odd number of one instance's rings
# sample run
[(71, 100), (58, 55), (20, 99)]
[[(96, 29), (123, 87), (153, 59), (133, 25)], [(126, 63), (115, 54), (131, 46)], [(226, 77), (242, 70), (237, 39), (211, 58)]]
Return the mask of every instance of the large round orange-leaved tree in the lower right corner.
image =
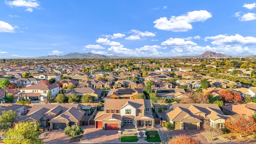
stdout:
[(230, 132), (242, 135), (256, 133), (256, 121), (252, 116), (245, 114), (234, 114), (225, 122), (225, 126)]

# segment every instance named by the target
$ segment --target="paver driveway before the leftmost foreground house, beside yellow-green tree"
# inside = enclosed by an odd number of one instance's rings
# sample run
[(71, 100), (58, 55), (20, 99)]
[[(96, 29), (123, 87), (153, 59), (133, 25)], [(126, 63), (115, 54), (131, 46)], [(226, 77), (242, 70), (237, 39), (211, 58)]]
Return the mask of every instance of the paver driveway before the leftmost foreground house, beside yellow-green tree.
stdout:
[(63, 142), (68, 143), (71, 136), (65, 135), (64, 130), (52, 130), (44, 138), (44, 143)]

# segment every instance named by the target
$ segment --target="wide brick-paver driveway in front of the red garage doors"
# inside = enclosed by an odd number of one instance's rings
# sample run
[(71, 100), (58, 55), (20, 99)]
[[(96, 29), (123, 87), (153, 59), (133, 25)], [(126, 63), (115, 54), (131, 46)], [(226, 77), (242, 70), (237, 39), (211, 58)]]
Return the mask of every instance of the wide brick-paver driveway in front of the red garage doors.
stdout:
[(119, 142), (118, 130), (102, 130), (102, 128), (94, 128), (94, 125), (82, 126), (84, 135), (81, 143), (100, 143), (100, 142)]

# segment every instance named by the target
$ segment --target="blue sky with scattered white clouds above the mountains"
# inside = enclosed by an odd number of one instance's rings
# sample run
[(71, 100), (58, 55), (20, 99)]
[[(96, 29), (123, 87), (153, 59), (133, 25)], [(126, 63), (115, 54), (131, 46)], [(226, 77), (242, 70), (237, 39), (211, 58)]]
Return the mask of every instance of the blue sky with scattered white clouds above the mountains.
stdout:
[(5, 0), (0, 58), (256, 55), (254, 0)]

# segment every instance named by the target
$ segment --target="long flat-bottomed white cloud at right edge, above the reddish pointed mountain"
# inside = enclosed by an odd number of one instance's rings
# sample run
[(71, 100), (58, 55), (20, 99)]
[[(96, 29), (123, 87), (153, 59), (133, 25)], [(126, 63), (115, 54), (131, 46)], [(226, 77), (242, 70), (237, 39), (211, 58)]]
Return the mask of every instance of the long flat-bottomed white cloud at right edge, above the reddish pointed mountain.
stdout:
[(256, 45), (256, 38), (252, 36), (241, 36), (240, 34), (236, 34), (234, 36), (222, 35), (219, 34), (218, 36), (207, 36), (204, 38), (205, 40), (213, 40), (211, 43), (214, 45)]

